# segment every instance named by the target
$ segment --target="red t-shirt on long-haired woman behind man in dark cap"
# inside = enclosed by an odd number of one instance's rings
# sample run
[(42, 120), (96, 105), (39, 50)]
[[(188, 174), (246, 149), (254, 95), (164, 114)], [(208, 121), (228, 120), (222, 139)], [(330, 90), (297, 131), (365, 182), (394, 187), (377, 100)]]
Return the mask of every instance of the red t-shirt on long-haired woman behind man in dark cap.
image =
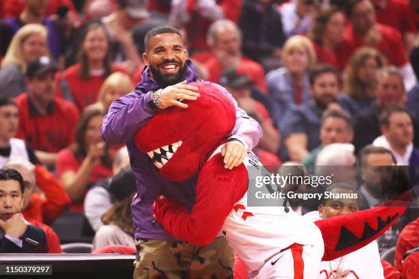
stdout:
[[(90, 76), (89, 79), (81, 79), (79, 75), (80, 66), (80, 63), (71, 66), (64, 71), (62, 78), (68, 83), (75, 105), (82, 111), (88, 105), (96, 103), (105, 76), (98, 75)], [(112, 72), (125, 72), (125, 70), (114, 64), (112, 65)]]

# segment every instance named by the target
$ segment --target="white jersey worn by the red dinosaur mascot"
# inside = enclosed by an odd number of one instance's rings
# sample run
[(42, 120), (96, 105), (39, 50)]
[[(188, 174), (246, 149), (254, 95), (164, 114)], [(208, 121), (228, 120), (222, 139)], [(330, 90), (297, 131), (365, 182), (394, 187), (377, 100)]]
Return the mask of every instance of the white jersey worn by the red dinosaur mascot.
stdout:
[[(255, 165), (255, 161), (262, 167), (257, 157), (249, 153), (244, 164), (248, 167)], [(223, 233), (231, 248), (251, 270), (260, 269), (272, 256), (293, 243), (312, 245), (322, 241), (318, 227), (292, 211), (291, 207), (249, 207), (247, 193), (228, 215)]]

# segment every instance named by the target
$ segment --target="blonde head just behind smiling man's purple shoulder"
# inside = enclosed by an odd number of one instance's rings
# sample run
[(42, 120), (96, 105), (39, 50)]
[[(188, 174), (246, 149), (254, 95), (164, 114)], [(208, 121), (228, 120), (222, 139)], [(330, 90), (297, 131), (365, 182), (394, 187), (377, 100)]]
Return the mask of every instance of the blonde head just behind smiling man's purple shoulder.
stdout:
[(133, 83), (129, 75), (123, 72), (114, 72), (103, 82), (97, 103), (100, 103), (103, 106), (103, 110), (107, 112), (113, 101), (128, 94), (132, 89)]

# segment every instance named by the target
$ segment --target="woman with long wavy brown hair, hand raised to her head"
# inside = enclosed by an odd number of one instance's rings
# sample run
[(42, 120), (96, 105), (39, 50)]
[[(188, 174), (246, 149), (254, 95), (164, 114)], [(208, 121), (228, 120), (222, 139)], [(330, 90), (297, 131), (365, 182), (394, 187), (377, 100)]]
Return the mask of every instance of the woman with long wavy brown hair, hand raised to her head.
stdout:
[(339, 104), (351, 115), (368, 107), (374, 100), (377, 86), (377, 71), (385, 65), (385, 58), (376, 49), (363, 47), (351, 57), (346, 68), (344, 92)]

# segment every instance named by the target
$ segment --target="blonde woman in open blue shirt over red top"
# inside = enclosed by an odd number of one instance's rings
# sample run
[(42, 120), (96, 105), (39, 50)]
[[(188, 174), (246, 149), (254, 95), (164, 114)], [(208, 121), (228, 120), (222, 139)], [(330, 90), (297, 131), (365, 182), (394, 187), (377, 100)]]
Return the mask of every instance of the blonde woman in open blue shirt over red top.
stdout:
[(316, 53), (310, 40), (304, 36), (290, 37), (282, 49), (283, 67), (266, 75), (266, 84), (274, 109), (272, 117), (279, 124), (292, 104), (301, 105), (311, 100), (309, 68), (316, 63)]

